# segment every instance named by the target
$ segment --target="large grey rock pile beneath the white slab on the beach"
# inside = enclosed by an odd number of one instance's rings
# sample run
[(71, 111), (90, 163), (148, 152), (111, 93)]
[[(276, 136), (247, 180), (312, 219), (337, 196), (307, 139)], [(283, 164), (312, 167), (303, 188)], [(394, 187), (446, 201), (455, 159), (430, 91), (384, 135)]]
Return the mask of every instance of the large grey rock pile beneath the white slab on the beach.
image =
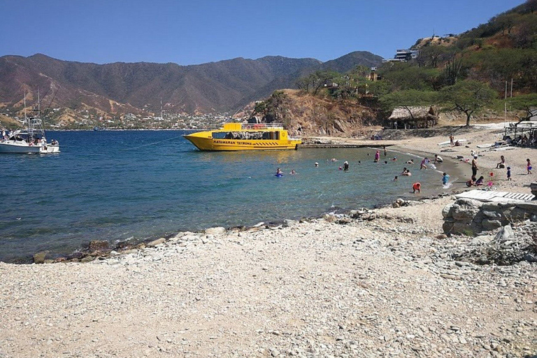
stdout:
[(458, 199), (446, 206), (443, 230), (446, 234), (474, 235), (513, 222), (537, 222), (537, 202), (491, 202)]

